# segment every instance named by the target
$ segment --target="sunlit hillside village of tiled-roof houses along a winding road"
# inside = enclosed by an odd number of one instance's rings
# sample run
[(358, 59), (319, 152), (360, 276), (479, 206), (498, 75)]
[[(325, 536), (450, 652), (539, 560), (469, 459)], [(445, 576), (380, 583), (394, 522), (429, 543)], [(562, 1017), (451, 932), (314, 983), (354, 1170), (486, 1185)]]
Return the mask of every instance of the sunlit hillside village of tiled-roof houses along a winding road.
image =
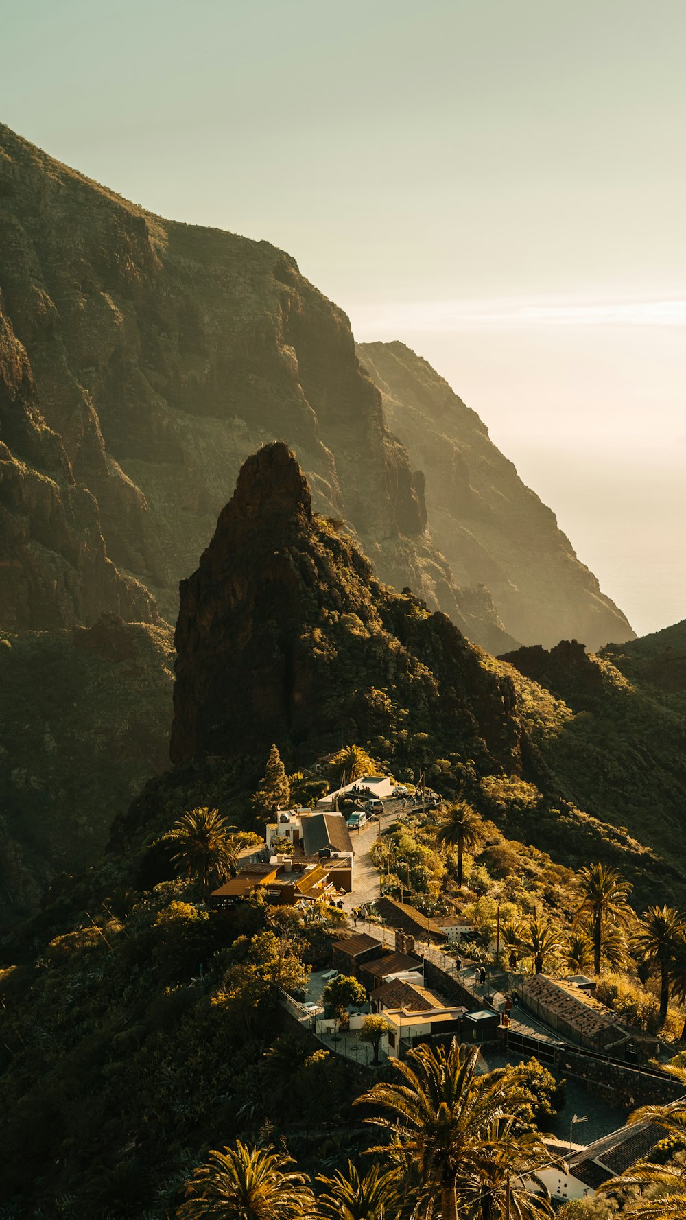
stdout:
[[(330, 964), (310, 975), (305, 994), (280, 997), (287, 1019), (341, 1058), (371, 1069), (457, 1038), (480, 1048), (483, 1072), (531, 1059), (548, 1068), (568, 1096), (546, 1137), (551, 1166), (540, 1176), (557, 1203), (588, 1198), (664, 1137), (655, 1124), (627, 1124), (627, 1114), (675, 1103), (684, 1087), (655, 1066), (657, 1039), (623, 1025), (596, 998), (592, 977), (472, 961), (460, 953), (471, 932), (464, 917), (430, 916), (382, 892), (374, 843), (385, 825), (427, 805), (439, 808), (438, 794), (411, 794), (388, 776), (367, 775), (314, 808), (280, 809), (264, 842), (238, 853), (237, 875), (211, 893), (210, 905), (231, 909), (259, 892), (273, 905), (320, 917), (328, 906), (347, 917)], [(574, 1138), (577, 1127), (586, 1143)]]

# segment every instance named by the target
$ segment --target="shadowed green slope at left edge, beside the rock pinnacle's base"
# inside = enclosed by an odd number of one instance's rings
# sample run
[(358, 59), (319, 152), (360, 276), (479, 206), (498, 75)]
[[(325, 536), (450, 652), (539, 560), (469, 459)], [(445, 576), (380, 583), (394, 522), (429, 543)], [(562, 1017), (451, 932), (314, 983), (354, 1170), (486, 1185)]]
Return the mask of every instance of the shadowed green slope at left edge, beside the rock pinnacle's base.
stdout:
[(99, 858), (114, 817), (168, 765), (166, 626), (0, 634), (0, 915)]

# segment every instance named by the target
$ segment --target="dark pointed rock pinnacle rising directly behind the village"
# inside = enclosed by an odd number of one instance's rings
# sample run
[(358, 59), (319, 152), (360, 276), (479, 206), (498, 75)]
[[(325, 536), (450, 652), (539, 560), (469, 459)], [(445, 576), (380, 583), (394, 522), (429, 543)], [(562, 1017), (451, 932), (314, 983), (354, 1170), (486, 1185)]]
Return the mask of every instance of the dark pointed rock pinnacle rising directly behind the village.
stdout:
[(376, 581), (355, 544), (312, 514), (283, 443), (244, 462), (181, 583), (175, 644), (173, 762), (271, 741), (311, 756), (342, 737), (366, 741), (387, 704), (416, 705), (439, 739), (519, 765), (510, 680), (444, 615)]

